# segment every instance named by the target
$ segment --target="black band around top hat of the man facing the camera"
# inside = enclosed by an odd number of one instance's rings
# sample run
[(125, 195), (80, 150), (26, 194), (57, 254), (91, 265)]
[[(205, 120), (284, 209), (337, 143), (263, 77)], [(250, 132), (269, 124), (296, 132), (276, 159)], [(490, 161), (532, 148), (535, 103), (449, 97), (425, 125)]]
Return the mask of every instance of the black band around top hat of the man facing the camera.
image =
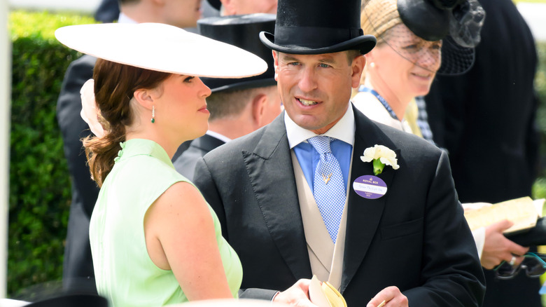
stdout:
[(276, 25), (274, 43), (279, 46), (323, 48), (363, 35), (364, 32), (360, 28), (339, 29)]

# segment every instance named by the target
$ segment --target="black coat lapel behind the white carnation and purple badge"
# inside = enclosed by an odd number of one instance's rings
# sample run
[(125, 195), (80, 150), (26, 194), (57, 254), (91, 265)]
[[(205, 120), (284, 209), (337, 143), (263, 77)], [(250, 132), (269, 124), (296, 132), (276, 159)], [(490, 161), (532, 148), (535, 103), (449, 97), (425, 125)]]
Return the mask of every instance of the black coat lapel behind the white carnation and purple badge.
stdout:
[(377, 199), (367, 199), (359, 196), (353, 189), (353, 182), (363, 175), (373, 175), (372, 163), (365, 163), (360, 160), (367, 147), (380, 144), (393, 149), (396, 156), (400, 157), (400, 151), (394, 148), (394, 144), (374, 125), (370, 119), (360, 111), (353, 108), (355, 114), (355, 142), (353, 146), (353, 165), (351, 179), (349, 182), (349, 201), (347, 208), (347, 225), (345, 237), (344, 266), (341, 292), (343, 293), (349, 282), (355, 275), (362, 263), (365, 254), (372, 243), (377, 231), (377, 226), (383, 214), (388, 189), (391, 187), (395, 170), (386, 166), (384, 171), (377, 177), (384, 180), (387, 192)]

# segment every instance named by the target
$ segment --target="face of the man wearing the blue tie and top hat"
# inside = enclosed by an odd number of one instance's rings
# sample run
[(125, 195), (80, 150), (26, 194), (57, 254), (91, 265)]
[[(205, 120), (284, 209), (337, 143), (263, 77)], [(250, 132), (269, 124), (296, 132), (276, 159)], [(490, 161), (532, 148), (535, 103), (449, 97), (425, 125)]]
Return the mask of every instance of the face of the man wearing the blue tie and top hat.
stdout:
[(345, 51), (321, 55), (273, 52), (275, 79), (284, 109), (300, 127), (322, 134), (349, 107), (351, 87), (360, 81), (365, 58), (351, 62)]

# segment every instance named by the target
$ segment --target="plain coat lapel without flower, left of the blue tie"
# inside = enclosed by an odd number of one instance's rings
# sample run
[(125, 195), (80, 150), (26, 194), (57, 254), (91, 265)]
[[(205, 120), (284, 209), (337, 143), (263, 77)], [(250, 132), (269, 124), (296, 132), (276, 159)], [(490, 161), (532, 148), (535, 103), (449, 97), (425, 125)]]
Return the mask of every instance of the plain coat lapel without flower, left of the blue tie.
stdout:
[(265, 128), (253, 152), (243, 151), (255, 199), (274, 243), (296, 279), (310, 278), (284, 113)]

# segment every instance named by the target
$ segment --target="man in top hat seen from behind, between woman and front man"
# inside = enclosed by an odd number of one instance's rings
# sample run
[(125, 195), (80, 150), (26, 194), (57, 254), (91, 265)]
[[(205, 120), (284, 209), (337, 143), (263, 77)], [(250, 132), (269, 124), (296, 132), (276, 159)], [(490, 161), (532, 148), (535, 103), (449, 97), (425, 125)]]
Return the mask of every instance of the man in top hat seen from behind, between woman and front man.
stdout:
[(260, 76), (244, 79), (202, 78), (212, 91), (207, 97), (209, 130), (185, 151), (180, 146), (183, 153), (173, 157), (174, 168), (186, 178), (193, 179), (195, 164), (205, 153), (271, 123), (281, 113), (271, 51), (258, 39), (261, 31), (272, 32), (274, 26), (273, 14), (204, 18), (197, 22), (201, 35), (250, 51), (262, 57), (268, 68)]

